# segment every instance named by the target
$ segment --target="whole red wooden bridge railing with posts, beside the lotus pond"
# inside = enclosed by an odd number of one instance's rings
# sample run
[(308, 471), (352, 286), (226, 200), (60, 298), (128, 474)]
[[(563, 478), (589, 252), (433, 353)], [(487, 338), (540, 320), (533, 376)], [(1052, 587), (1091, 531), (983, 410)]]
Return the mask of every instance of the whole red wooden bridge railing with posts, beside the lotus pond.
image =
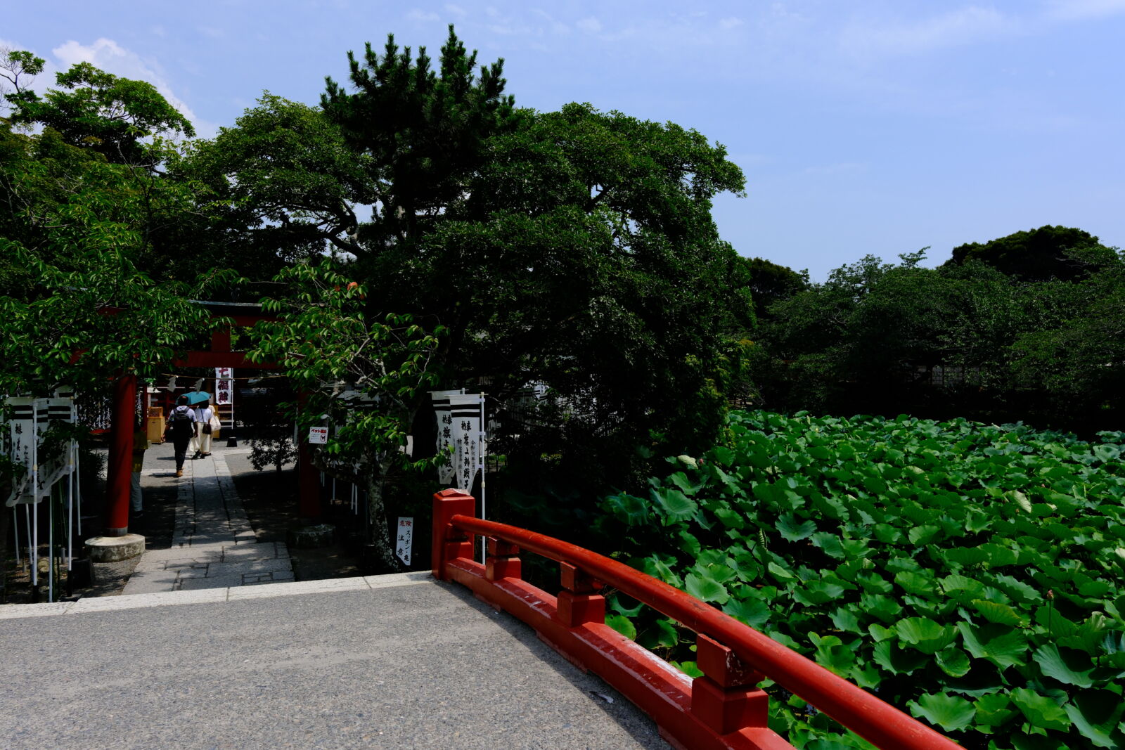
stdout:
[[(492, 606), (533, 627), (583, 670), (591, 670), (645, 711), (673, 746), (690, 750), (791, 750), (766, 726), (765, 678), (883, 750), (950, 750), (960, 746), (898, 708), (734, 617), (650, 576), (590, 550), (524, 528), (475, 517), (476, 500), (459, 490), (433, 496), (433, 575), (470, 588)], [(472, 537), (487, 539), (485, 564)], [(526, 550), (560, 563), (552, 596), (521, 579)], [(605, 624), (612, 586), (696, 633), (692, 679)]]

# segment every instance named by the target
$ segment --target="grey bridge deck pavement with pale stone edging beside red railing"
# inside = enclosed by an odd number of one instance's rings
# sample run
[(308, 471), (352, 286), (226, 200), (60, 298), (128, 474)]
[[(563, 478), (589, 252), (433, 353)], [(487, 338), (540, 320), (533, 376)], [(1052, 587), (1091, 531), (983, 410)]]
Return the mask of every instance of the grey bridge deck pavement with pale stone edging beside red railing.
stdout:
[(0, 609), (3, 748), (667, 748), (429, 573)]

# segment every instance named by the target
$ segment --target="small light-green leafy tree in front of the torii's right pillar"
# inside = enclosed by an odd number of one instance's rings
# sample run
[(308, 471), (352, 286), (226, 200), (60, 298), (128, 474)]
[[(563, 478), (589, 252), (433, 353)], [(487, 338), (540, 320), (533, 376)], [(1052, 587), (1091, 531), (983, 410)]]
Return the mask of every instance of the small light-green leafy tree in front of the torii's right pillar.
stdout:
[(382, 567), (397, 570), (386, 493), (404, 471), (434, 466), (413, 460), (406, 437), (438, 385), (433, 363), (444, 331), (426, 332), (408, 314), (368, 305), (367, 289), (331, 259), (287, 268), (276, 281), (286, 293), (262, 307), (279, 319), (254, 326), (250, 356), (280, 363), (302, 391), (299, 431), (331, 427), (317, 463), (367, 490), (367, 539)]

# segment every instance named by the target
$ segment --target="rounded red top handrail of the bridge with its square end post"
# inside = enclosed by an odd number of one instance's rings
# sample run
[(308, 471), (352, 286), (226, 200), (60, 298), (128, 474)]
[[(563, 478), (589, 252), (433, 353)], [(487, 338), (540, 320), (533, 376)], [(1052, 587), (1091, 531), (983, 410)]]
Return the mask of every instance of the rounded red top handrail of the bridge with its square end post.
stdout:
[[(439, 493), (434, 496), (434, 575), (439, 578), (446, 578), (444, 569), (453, 563), (466, 570), (470, 566), (480, 567), (479, 563), (468, 561), (472, 549), (470, 544), (464, 542), (464, 546), (456, 544), (458, 531), (501, 540), (508, 545), (516, 545), (565, 566), (573, 566), (588, 578), (612, 586), (694, 631), (701, 636), (700, 654), (698, 654), (701, 668), (704, 642), (718, 642), (719, 649), (726, 647), (736, 657), (728, 659), (728, 662), (737, 663), (740, 660), (744, 669), (748, 667), (760, 672), (759, 675), (747, 672), (745, 683), (756, 684), (764, 675), (879, 748), (951, 750), (960, 747), (814, 661), (677, 588), (575, 544), (516, 526), (476, 518), (470, 515), (474, 512), (471, 505), (468, 507), (465, 505), (466, 500), (471, 503), (472, 498), (461, 493), (456, 493), (456, 499), (461, 501), (459, 507), (447, 507), (446, 513), (439, 514), (438, 504), (442, 495), (446, 495), (444, 499), (452, 500), (454, 490), (446, 490), (444, 494)], [(450, 510), (457, 512), (449, 513)], [(496, 560), (514, 559), (518, 550), (510, 549), (505, 552), (504, 555), (490, 558), (489, 564), (494, 564)], [(438, 568), (442, 570), (439, 571)], [(508, 582), (507, 577), (497, 576), (497, 578)], [(518, 567), (513, 578), (519, 578)], [(587, 586), (585, 590), (593, 589)], [(564, 594), (574, 598), (573, 594), (567, 591)], [(708, 677), (713, 677), (708, 669), (704, 668), (703, 671)], [(734, 671), (737, 672), (738, 669)], [(696, 683), (700, 679), (704, 678), (698, 678)], [(729, 687), (730, 684), (729, 679), (719, 681), (720, 687)]]

